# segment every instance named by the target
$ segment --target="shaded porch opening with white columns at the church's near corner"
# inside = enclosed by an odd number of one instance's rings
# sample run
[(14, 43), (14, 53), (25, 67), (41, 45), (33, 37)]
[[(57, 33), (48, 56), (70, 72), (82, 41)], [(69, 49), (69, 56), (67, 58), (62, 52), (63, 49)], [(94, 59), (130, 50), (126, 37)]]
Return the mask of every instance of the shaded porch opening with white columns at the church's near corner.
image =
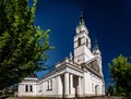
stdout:
[(62, 98), (80, 97), (81, 95), (81, 77), (73, 74), (61, 74), (61, 96)]

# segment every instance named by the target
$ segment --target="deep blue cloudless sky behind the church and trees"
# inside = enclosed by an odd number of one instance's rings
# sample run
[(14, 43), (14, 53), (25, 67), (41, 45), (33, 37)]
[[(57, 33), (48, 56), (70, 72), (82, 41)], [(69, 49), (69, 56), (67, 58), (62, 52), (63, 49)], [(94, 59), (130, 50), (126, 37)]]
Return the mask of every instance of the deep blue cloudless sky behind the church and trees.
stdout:
[[(108, 63), (115, 57), (131, 55), (131, 0), (38, 0), (35, 25), (50, 28), (50, 45), (47, 63), (55, 65), (69, 52), (73, 52), (73, 36), (79, 25), (81, 11), (90, 32), (92, 47), (97, 39), (103, 57), (106, 87), (109, 82)], [(38, 73), (40, 77), (46, 72)]]

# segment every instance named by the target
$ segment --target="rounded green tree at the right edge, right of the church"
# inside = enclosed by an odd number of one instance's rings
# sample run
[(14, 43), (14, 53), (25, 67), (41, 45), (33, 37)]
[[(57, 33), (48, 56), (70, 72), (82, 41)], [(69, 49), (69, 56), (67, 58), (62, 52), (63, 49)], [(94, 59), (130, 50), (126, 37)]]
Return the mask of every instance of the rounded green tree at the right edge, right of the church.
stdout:
[(111, 77), (116, 84), (116, 90), (127, 96), (131, 92), (131, 60), (120, 54), (109, 64)]

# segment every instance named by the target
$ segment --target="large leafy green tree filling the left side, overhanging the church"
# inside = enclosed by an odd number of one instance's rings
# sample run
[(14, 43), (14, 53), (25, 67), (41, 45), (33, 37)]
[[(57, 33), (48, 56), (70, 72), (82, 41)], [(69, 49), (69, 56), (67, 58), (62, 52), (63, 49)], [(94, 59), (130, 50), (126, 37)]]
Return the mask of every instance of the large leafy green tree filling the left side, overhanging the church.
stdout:
[(48, 69), (49, 29), (34, 25), (37, 0), (0, 0), (0, 89)]

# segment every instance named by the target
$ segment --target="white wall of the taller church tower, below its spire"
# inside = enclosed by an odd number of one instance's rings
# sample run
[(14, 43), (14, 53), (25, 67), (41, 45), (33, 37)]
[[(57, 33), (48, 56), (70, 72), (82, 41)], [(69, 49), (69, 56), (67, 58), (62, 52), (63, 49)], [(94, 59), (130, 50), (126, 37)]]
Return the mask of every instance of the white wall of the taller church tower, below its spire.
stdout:
[[(80, 37), (82, 46), (78, 47), (78, 39)], [(74, 62), (78, 62), (79, 60), (80, 63), (83, 63), (93, 58), (91, 49), (86, 46), (86, 39), (88, 40), (88, 45), (91, 45), (91, 39), (85, 33), (81, 33), (74, 36)]]

